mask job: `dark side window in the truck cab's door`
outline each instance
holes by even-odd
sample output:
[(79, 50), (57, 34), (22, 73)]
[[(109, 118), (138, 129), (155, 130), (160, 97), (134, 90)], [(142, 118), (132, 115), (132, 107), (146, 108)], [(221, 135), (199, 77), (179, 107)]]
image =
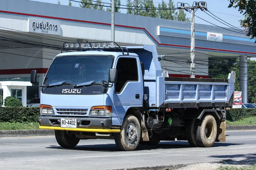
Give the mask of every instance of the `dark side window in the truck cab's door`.
[(127, 82), (138, 81), (137, 60), (134, 58), (120, 58), (117, 61), (117, 82), (115, 84), (116, 94), (122, 91)]

